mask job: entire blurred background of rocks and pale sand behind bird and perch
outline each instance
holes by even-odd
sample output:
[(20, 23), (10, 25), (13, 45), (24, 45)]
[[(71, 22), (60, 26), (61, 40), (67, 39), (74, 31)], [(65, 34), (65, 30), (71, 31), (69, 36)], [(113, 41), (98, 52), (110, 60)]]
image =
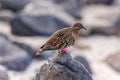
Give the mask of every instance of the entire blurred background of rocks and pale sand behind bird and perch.
[(0, 0), (0, 80), (35, 80), (55, 51), (34, 53), (58, 29), (82, 21), (69, 48), (95, 80), (120, 80), (120, 0)]

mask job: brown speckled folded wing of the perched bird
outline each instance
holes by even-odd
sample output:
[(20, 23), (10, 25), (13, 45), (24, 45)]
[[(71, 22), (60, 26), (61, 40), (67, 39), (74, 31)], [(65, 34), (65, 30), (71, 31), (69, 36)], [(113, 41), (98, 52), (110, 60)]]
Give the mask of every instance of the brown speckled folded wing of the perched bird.
[(63, 28), (56, 31), (50, 39), (41, 47), (45, 50), (56, 50), (61, 48), (66, 48), (74, 44), (74, 38), (72, 37), (71, 30), (68, 28)]

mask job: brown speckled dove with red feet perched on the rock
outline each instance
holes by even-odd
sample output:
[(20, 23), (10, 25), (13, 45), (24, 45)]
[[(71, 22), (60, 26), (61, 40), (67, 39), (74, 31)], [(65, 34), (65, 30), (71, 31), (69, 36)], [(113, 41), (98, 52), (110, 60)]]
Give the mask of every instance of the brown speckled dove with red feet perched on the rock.
[(59, 53), (68, 53), (66, 48), (74, 45), (80, 35), (81, 29), (87, 30), (80, 22), (77, 22), (70, 27), (57, 30), (40, 47), (36, 55), (41, 55), (44, 51), (48, 50), (58, 50)]

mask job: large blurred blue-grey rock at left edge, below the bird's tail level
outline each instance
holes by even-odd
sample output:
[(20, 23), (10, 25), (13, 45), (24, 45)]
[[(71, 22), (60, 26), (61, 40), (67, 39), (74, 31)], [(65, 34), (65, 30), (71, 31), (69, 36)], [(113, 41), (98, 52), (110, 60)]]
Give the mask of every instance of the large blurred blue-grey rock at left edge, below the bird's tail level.
[(27, 51), (0, 34), (0, 65), (11, 70), (23, 71), (31, 61), (32, 57)]

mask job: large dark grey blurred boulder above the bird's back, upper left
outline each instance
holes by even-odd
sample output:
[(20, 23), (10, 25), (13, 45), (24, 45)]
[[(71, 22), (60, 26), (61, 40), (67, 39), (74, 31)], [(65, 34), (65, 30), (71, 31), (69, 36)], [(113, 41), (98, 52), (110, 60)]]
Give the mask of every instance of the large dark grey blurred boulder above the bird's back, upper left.
[(22, 13), (10, 21), (12, 33), (19, 36), (51, 35), (56, 30), (68, 26), (60, 18), (51, 15)]

